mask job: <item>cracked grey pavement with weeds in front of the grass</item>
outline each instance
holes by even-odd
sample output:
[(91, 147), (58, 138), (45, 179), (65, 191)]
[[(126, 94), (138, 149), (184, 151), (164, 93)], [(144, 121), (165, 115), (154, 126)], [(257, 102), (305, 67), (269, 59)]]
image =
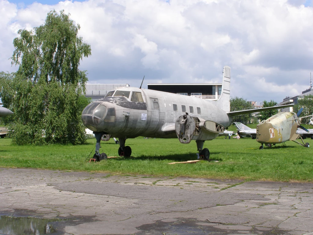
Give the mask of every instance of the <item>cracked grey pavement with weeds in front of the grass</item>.
[(310, 234), (313, 184), (0, 169), (0, 215), (60, 234)]

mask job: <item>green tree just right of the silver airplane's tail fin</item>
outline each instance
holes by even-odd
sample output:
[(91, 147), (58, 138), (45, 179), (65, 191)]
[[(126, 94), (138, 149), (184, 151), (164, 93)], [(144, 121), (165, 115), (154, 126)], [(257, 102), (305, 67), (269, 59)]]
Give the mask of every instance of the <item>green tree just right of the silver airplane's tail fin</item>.
[[(240, 111), (240, 110), (247, 110), (252, 109), (252, 105), (249, 101), (245, 100), (244, 98), (239, 97), (231, 97), (230, 98), (230, 111)], [(240, 122), (243, 124), (250, 123), (251, 114), (243, 114), (239, 116), (233, 117), (233, 122)]]

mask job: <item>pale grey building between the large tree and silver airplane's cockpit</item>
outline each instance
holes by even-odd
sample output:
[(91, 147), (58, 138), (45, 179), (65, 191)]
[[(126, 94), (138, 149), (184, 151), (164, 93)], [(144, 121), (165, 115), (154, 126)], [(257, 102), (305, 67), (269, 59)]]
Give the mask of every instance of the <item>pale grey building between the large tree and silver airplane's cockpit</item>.
[(86, 95), (92, 101), (105, 97), (108, 91), (115, 90), (116, 87), (129, 86), (129, 84), (86, 84)]

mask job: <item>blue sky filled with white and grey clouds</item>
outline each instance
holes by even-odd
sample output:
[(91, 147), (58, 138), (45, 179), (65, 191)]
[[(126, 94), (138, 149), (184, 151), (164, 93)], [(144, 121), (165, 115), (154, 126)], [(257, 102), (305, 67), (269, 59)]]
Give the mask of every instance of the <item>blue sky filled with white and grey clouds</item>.
[(18, 69), (18, 29), (54, 9), (91, 45), (89, 84), (221, 83), (228, 65), (231, 97), (279, 103), (310, 87), (312, 0), (0, 0), (0, 71)]

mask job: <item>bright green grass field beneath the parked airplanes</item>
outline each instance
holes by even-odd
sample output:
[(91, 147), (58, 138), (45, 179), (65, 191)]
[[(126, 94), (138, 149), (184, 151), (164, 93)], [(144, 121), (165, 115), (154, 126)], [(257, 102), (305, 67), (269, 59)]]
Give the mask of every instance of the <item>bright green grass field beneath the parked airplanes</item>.
[[(313, 147), (313, 140), (305, 139)], [(196, 160), (196, 143), (180, 144), (178, 139), (127, 139), (131, 158), (116, 158), (89, 163), (94, 154), (95, 138), (85, 145), (18, 146), (11, 139), (0, 139), (0, 167), (36, 168), (104, 172), (122, 175), (164, 175), (196, 178), (246, 179), (313, 182), (312, 149), (288, 141), (272, 148), (255, 140), (219, 137), (206, 141), (210, 161), (196, 164), (167, 163)], [(117, 156), (119, 145), (102, 142), (100, 152)], [(90, 154), (90, 152), (92, 152)], [(88, 157), (88, 155), (90, 156)], [(216, 162), (218, 161), (218, 162)]]

